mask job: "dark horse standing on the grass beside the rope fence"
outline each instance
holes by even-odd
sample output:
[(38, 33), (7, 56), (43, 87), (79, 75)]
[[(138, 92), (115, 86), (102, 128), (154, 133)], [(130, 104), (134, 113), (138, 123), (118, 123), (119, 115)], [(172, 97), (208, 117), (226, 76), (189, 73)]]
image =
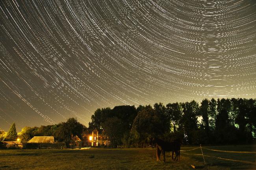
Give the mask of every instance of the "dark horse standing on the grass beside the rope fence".
[[(165, 152), (172, 152), (172, 160), (180, 160), (180, 146), (181, 143), (176, 140), (173, 142), (165, 142), (156, 137), (153, 138), (153, 143), (156, 143), (156, 160), (160, 161), (160, 154), (163, 154), (163, 161), (165, 161)], [(173, 153), (175, 152), (175, 158), (173, 158)]]

